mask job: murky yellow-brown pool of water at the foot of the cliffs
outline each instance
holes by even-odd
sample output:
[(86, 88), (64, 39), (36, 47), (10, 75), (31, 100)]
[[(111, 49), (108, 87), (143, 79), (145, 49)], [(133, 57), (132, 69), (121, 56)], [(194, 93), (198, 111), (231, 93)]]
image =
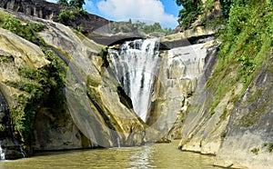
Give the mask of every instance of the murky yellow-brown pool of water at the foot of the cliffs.
[(1, 169), (38, 168), (214, 168), (213, 156), (181, 152), (178, 142), (150, 144), (140, 147), (122, 147), (68, 152), (35, 154), (34, 157), (17, 161), (0, 162)]

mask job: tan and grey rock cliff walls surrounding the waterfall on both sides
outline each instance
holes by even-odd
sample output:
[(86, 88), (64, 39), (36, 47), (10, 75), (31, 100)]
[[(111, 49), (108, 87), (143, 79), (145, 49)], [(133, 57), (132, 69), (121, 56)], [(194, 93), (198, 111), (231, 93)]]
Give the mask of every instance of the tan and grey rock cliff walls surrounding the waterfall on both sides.
[[(216, 165), (271, 167), (273, 62), (268, 37), (261, 38), (266, 39), (260, 47), (264, 56), (255, 61), (263, 64), (255, 67), (253, 77), (248, 75), (248, 85), (238, 73), (246, 65), (244, 58), (217, 62), (216, 30), (197, 26), (162, 37), (144, 123), (108, 66), (105, 45), (115, 44), (120, 36), (111, 41), (93, 34), (87, 38), (54, 22), (62, 7), (45, 1), (3, 0), (0, 6), (14, 11), (5, 13), (20, 18), (22, 26), (45, 26), (33, 43), (0, 28), (1, 158), (3, 152), (6, 159), (20, 158), (21, 148), (32, 154), (141, 145), (167, 137), (182, 138), (183, 151), (216, 155)], [(92, 32), (108, 23), (86, 15), (67, 25)], [(63, 80), (66, 84), (61, 85)], [(25, 120), (27, 115), (32, 118)]]

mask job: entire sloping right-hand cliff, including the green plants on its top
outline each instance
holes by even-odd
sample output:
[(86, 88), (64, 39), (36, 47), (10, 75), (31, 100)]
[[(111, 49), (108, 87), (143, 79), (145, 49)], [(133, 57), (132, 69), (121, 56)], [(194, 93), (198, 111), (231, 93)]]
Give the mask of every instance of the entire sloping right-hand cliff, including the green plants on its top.
[[(183, 151), (215, 154), (215, 164), (225, 167), (272, 165), (272, 4), (252, 3), (230, 13), (217, 65), (192, 98), (179, 144)], [(242, 11), (253, 17), (238, 19)], [(238, 20), (246, 24), (235, 33), (231, 25)], [(264, 38), (249, 35), (257, 32)]]

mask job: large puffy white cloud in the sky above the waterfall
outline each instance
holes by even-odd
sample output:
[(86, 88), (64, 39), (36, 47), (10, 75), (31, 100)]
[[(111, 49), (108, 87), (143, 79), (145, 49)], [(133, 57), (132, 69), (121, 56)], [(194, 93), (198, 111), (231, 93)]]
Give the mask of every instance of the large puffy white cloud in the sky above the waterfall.
[(159, 0), (101, 0), (97, 4), (104, 15), (116, 20), (141, 20), (147, 24), (159, 22), (163, 26), (175, 27), (177, 18), (166, 14)]

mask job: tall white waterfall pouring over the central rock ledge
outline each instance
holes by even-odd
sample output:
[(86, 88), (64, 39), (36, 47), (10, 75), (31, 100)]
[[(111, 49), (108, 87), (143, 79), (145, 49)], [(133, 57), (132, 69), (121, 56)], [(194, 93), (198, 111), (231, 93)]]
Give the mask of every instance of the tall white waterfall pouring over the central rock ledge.
[(127, 41), (119, 51), (109, 49), (116, 79), (130, 96), (136, 114), (145, 122), (152, 81), (156, 75), (159, 39)]

